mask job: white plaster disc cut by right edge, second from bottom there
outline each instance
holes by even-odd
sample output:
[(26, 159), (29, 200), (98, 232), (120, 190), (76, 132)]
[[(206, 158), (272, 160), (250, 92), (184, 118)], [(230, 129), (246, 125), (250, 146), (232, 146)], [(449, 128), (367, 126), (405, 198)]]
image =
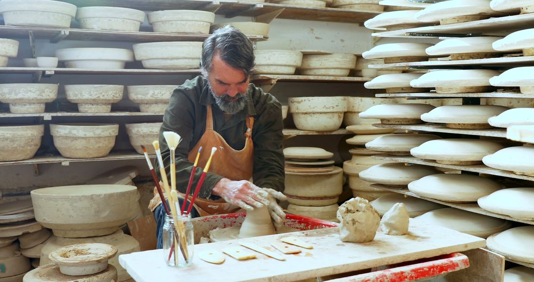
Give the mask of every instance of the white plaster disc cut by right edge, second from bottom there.
[(512, 260), (534, 263), (534, 226), (521, 226), (497, 234), (486, 240), (490, 250), (503, 254)]

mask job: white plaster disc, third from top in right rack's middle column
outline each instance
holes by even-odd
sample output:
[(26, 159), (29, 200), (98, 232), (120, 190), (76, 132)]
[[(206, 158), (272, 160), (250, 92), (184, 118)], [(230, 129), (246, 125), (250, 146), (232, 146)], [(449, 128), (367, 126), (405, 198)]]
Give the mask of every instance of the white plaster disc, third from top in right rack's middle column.
[[(451, 0), (453, 1), (453, 0)], [(451, 69), (434, 70), (412, 80), (412, 87), (472, 87), (489, 86), (490, 79), (499, 75), (490, 69)]]

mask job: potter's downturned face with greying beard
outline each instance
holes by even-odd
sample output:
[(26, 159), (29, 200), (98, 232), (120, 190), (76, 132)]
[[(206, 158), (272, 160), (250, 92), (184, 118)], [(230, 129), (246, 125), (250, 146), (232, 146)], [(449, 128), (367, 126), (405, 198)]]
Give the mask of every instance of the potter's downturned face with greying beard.
[(243, 70), (227, 65), (218, 53), (213, 56), (208, 82), (211, 95), (223, 112), (235, 114), (245, 108), (249, 77)]

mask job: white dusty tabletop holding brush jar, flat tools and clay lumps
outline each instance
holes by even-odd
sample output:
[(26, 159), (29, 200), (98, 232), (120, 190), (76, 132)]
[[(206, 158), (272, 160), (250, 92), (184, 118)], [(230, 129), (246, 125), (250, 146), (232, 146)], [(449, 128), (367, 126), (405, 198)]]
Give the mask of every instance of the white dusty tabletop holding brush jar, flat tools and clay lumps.
[[(372, 242), (364, 244), (342, 242), (339, 239), (338, 228), (326, 228), (200, 244), (195, 245), (194, 252), (220, 251), (225, 247), (239, 246), (239, 242), (242, 241), (276, 250), (270, 246), (271, 242), (288, 236), (295, 236), (309, 242), (313, 245), (313, 249), (301, 248), (300, 254), (284, 255), (285, 261), (278, 261), (246, 249), (247, 252), (255, 253), (257, 258), (237, 261), (226, 256), (226, 261), (220, 265), (202, 261), (195, 256), (193, 264), (187, 268), (167, 267), (163, 261), (161, 249), (121, 255), (119, 262), (137, 282), (176, 281), (178, 279), (182, 281), (272, 281), (273, 278), (276, 281), (294, 281), (486, 246), (482, 238), (436, 225), (410, 221), (409, 234), (389, 236), (377, 233)], [(245, 249), (245, 247), (241, 248)]]

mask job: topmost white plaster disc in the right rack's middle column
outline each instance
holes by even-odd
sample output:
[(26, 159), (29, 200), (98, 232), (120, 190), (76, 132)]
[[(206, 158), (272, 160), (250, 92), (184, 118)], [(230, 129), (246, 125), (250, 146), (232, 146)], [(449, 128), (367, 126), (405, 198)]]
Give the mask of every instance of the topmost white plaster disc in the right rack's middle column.
[(425, 8), (415, 15), (418, 21), (449, 23), (483, 20), (499, 17), (505, 13), (493, 11), (490, 0), (450, 0), (443, 1)]

